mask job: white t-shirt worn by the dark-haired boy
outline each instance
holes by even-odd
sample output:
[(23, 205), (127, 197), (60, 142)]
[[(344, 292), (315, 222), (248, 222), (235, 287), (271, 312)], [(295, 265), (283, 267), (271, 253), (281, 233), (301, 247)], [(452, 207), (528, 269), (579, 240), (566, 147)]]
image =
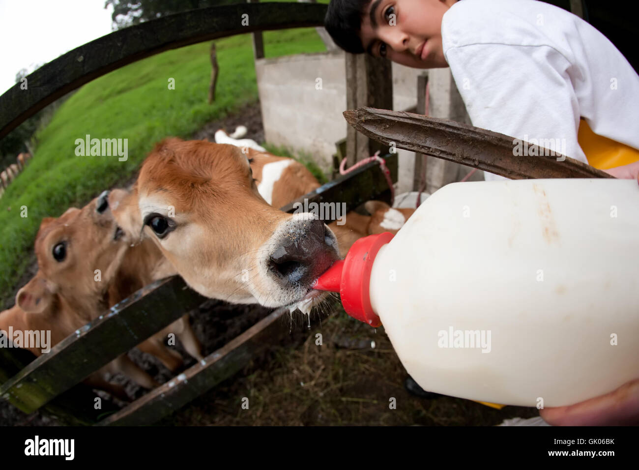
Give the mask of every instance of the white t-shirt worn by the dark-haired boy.
[(583, 116), (595, 134), (639, 148), (639, 76), (573, 13), (534, 0), (461, 0), (443, 15), (442, 44), (474, 126), (557, 143), (551, 150), (587, 163)]

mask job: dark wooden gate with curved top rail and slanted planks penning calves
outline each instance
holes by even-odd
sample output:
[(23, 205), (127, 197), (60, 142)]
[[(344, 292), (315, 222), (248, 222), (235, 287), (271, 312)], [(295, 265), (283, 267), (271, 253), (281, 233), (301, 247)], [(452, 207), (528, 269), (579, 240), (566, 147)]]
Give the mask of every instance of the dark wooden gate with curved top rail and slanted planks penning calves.
[[(235, 4), (168, 15), (116, 31), (67, 52), (33, 72), (27, 77), (28, 93), (16, 84), (0, 96), (0, 137), (69, 91), (128, 63), (225, 36), (321, 26), (326, 9), (324, 4)], [(248, 26), (241, 26), (242, 15), (248, 15)], [(396, 182), (397, 155), (386, 155), (385, 159)], [(304, 199), (309, 203), (346, 202), (346, 208), (352, 210), (371, 199), (389, 201), (390, 191), (377, 164), (371, 163), (298, 201)], [(293, 212), (293, 204), (282, 210)], [(288, 313), (288, 309), (276, 309), (203, 361), (121, 410), (107, 402), (98, 411), (78, 406), (80, 402), (93, 403), (95, 398), (91, 390), (79, 382), (205, 300), (179, 276), (174, 276), (135, 292), (61, 341), (49, 354), (35, 360), (26, 350), (0, 349), (0, 396), (23, 412), (42, 408), (73, 425), (154, 423), (231, 377), (249, 363), (256, 352), (286, 333), (277, 320)], [(100, 414), (109, 416), (100, 420)]]

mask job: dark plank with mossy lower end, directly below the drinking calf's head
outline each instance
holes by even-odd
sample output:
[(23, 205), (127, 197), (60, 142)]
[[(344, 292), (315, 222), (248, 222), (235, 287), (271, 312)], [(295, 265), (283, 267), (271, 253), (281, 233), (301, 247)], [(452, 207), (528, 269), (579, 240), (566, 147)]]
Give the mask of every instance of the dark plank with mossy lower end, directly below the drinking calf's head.
[(150, 284), (4, 382), (0, 396), (33, 412), (204, 300), (179, 276)]

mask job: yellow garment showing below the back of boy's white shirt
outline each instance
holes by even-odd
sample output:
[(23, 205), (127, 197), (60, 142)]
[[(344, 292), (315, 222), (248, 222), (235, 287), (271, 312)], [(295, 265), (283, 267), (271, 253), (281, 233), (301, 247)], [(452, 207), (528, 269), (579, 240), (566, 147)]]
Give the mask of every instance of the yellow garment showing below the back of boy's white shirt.
[(579, 121), (577, 141), (590, 166), (597, 169), (610, 169), (639, 161), (639, 150), (595, 134), (583, 118)]

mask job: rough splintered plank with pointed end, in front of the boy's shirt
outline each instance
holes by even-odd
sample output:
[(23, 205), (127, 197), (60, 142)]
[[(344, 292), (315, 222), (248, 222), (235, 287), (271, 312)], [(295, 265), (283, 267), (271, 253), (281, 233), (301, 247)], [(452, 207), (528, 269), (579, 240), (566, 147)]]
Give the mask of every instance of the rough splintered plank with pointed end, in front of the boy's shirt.
[(362, 134), (399, 148), (472, 166), (511, 179), (612, 178), (600, 169), (538, 145), (528, 155), (514, 155), (513, 137), (447, 119), (360, 107), (344, 111), (346, 121)]

